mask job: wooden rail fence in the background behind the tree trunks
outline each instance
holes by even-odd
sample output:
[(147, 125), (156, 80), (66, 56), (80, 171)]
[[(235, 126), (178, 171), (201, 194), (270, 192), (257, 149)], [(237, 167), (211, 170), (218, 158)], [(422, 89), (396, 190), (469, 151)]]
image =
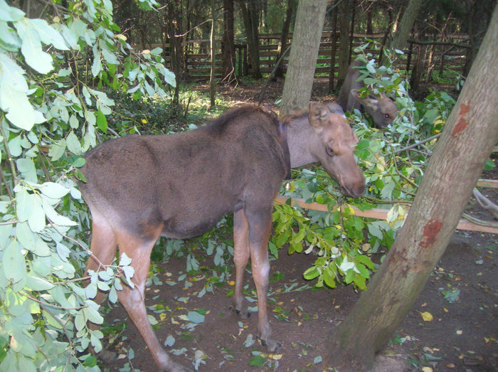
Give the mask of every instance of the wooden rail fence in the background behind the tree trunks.
[[(366, 38), (374, 41), (382, 42), (383, 33), (366, 34), (354, 33), (351, 43), (351, 50), (357, 46), (366, 43)], [(417, 62), (418, 58), (423, 58), (426, 63), (437, 63), (438, 69), (452, 69), (461, 70), (465, 64), (465, 55), (468, 37), (462, 34), (454, 35), (435, 35), (433, 41), (418, 42), (413, 40), (410, 46), (406, 48), (405, 55), (401, 60), (405, 64), (406, 70), (411, 70), (413, 65)], [(292, 43), (292, 33), (288, 35), (288, 42), (286, 46), (282, 47), (285, 51)], [(339, 51), (339, 35), (336, 39), (335, 50)], [(277, 48), (280, 41), (280, 34), (263, 34), (260, 35), (260, 71), (261, 73), (270, 73), (275, 67), (277, 62)], [(211, 56), (209, 55), (209, 41), (196, 40), (196, 41), (183, 41), (182, 46), (184, 49), (184, 75), (189, 79), (206, 80), (209, 78), (211, 69)], [(164, 58), (166, 63), (171, 60), (169, 55), (169, 44), (149, 44), (142, 46), (142, 48), (156, 48), (161, 47), (164, 51)], [(324, 31), (320, 41), (320, 48), (317, 58), (317, 68), (315, 76), (329, 76), (331, 73), (332, 63), (332, 31)], [(367, 50), (373, 55), (378, 55), (378, 51)], [(352, 58), (354, 58), (352, 52)], [(422, 54), (422, 55), (420, 55)], [(221, 61), (221, 41), (216, 41), (216, 76), (221, 77), (222, 61)], [(339, 55), (336, 55), (338, 60)], [(288, 55), (282, 61), (284, 72), (288, 64)], [(245, 39), (238, 39), (235, 41), (235, 73), (238, 76), (248, 75), (250, 60), (248, 53), (248, 46)]]

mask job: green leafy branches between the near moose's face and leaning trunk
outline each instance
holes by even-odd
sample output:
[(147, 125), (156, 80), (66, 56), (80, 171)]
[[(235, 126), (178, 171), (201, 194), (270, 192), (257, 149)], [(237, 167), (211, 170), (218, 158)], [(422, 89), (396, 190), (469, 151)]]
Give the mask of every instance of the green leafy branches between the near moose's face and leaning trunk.
[[(323, 204), (327, 212), (304, 212), (276, 205), (273, 213), (275, 235), (271, 252), (277, 255), (278, 249), (288, 242), (288, 253), (316, 254), (317, 260), (304, 277), (316, 279), (317, 287), (352, 282), (365, 289), (366, 279), (375, 268), (371, 258), (393, 244), (437, 141), (433, 135), (441, 131), (455, 105), (455, 100), (443, 92), (432, 92), (425, 102), (413, 102), (405, 77), (395, 67), (396, 54), (401, 52), (384, 49), (385, 63), (378, 65), (371, 54), (364, 53), (370, 43), (373, 41), (355, 51), (366, 64), (361, 69), (366, 86), (360, 92), (364, 96), (385, 92), (396, 99), (399, 115), (383, 131), (374, 129), (371, 118), (358, 110), (349, 115), (360, 139), (355, 154), (366, 177), (366, 196), (344, 198), (321, 168), (302, 169), (294, 171), (296, 180), (285, 195)], [(385, 209), (387, 219), (360, 218), (353, 206), (362, 211)]]

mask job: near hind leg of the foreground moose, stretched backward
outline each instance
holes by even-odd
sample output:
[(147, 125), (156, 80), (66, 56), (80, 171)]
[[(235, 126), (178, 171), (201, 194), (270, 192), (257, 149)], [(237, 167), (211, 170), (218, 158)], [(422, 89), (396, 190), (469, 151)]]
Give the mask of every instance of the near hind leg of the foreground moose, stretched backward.
[(131, 265), (134, 269), (132, 282), (134, 283), (134, 288), (124, 285), (122, 291), (117, 291), (117, 296), (130, 319), (137, 326), (150, 354), (152, 354), (152, 358), (154, 358), (161, 371), (185, 372), (189, 370), (174, 363), (169, 358), (166, 351), (159, 344), (159, 340), (149, 323), (149, 319), (147, 319), (147, 310), (144, 301), (145, 281), (147, 280), (147, 275), (149, 275), (150, 253), (154, 247), (154, 243), (159, 238), (159, 234), (160, 230), (157, 231), (157, 235), (154, 238), (147, 241), (127, 233), (118, 234), (117, 243), (120, 248), (120, 255), (126, 253), (132, 259)]

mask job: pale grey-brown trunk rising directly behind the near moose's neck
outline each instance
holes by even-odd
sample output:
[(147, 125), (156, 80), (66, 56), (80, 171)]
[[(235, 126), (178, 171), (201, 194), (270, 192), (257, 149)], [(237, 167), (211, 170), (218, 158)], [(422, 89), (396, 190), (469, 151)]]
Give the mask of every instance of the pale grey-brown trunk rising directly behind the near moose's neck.
[(282, 115), (309, 105), (326, 10), (327, 0), (300, 1), (297, 6), (289, 68), (282, 92)]

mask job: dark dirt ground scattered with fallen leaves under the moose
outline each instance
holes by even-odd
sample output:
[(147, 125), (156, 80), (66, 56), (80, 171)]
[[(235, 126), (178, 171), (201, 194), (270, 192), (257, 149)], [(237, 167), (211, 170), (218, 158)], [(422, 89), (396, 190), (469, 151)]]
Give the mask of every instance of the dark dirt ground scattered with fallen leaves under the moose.
[[(279, 84), (267, 91), (268, 107), (275, 108)], [(317, 84), (315, 97), (323, 99), (326, 84)], [(232, 89), (226, 95), (233, 97), (235, 105), (257, 100), (260, 88), (250, 91), (244, 87), (238, 95)], [(485, 176), (497, 179), (498, 172)], [(498, 201), (497, 191), (484, 189), (483, 193)], [(472, 200), (470, 210), (492, 220)], [(282, 250), (279, 259), (271, 262), (269, 312), (273, 335), (283, 344), (278, 354), (267, 354), (253, 341), (256, 314), (241, 320), (229, 310), (231, 298), (227, 294), (233, 289), (233, 266), (229, 267), (230, 280), (201, 296), (211, 275), (208, 269), (214, 267), (213, 255), (196, 258), (206, 270), (185, 276), (186, 260), (169, 257), (157, 265), (157, 278), (163, 284), (147, 288), (149, 314), (159, 322), (157, 336), (166, 344), (172, 344), (174, 338), (174, 344), (166, 348), (174, 361), (195, 369), (197, 358), (201, 361), (198, 371), (334, 371), (334, 366), (322, 362), (328, 352), (327, 334), (345, 319), (360, 293), (352, 286), (314, 289), (314, 283), (302, 277), (315, 259), (313, 254), (287, 255)], [(249, 271), (245, 284), (247, 297), (255, 299)], [(432, 320), (424, 319), (428, 314)], [(110, 371), (157, 371), (119, 304), (105, 319), (114, 329), (126, 326), (119, 332), (123, 341), (116, 337), (110, 346), (121, 354), (120, 359), (104, 367)], [(133, 358), (128, 358), (130, 349)], [(378, 356), (377, 371), (422, 370), (498, 371), (498, 235), (455, 233), (413, 308)]]

